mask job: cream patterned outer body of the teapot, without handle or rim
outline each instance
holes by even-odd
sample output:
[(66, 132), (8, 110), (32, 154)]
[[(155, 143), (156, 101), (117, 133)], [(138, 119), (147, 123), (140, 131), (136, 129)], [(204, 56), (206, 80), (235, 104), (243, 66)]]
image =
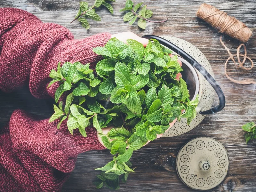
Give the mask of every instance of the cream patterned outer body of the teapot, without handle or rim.
[[(211, 75), (213, 76), (212, 67), (209, 61), (206, 59), (204, 54), (196, 48), (193, 44), (176, 37), (171, 36), (162, 36), (162, 38), (170, 41), (176, 46), (180, 47), (182, 50), (187, 52), (190, 56), (192, 56), (197, 62), (199, 62)], [(177, 121), (168, 132), (163, 134), (163, 137), (174, 137), (177, 135), (181, 135), (195, 128), (198, 124), (200, 124), (206, 115), (201, 115), (199, 111), (205, 111), (212, 107), (213, 98), (214, 98), (214, 89), (210, 85), (210, 83), (202, 76), (199, 71), (196, 70), (198, 79), (199, 79), (199, 103), (196, 108), (197, 115), (196, 118), (188, 125), (186, 118), (181, 118), (180, 121)]]

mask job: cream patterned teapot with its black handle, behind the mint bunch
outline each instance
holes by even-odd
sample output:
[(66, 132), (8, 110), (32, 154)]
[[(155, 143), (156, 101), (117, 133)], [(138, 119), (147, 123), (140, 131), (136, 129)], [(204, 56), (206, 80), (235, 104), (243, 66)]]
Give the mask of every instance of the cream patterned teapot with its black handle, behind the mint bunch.
[[(173, 137), (190, 131), (203, 121), (206, 115), (219, 112), (225, 107), (225, 96), (219, 84), (213, 78), (213, 71), (204, 54), (193, 44), (171, 36), (142, 36), (147, 39), (156, 39), (160, 44), (171, 49), (182, 62), (182, 78), (188, 85), (190, 100), (199, 95), (199, 103), (196, 108), (196, 118), (188, 125), (186, 118), (177, 121), (163, 137)], [(211, 108), (214, 92), (219, 97), (219, 105)]]

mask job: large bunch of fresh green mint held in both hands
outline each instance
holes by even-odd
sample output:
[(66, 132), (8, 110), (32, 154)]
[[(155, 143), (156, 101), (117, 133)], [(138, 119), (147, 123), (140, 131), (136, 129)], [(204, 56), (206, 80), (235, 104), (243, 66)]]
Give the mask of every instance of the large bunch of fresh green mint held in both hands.
[[(53, 79), (61, 84), (55, 92), (58, 102), (68, 92), (65, 107), (62, 101), (54, 105), (55, 113), (49, 122), (60, 119), (57, 128), (68, 118), (71, 134), (77, 129), (86, 137), (85, 128), (93, 125), (100, 132), (104, 145), (110, 150), (113, 160), (97, 175), (97, 188), (106, 185), (119, 188), (119, 176), (126, 182), (134, 172), (129, 161), (132, 152), (155, 140), (164, 133), (175, 118), (187, 118), (188, 124), (196, 117), (198, 96), (190, 101), (186, 82), (176, 75), (182, 71), (178, 57), (168, 55), (166, 49), (155, 39), (148, 41), (146, 48), (135, 40), (127, 44), (112, 38), (104, 47), (93, 51), (103, 56), (95, 68), (90, 64), (66, 62), (57, 71), (52, 70)], [(62, 98), (64, 99), (64, 98)], [(185, 113), (181, 110), (185, 109)], [(107, 134), (102, 128), (114, 125)], [(111, 141), (110, 141), (111, 139)]]

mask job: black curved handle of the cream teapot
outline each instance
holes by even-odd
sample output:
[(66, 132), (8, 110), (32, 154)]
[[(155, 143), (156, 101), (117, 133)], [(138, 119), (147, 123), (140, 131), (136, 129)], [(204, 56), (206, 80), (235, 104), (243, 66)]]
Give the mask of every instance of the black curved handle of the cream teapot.
[(214, 114), (219, 112), (225, 107), (225, 96), (222, 92), (220, 85), (215, 81), (215, 79), (208, 73), (208, 71), (205, 70), (205, 68), (202, 67), (194, 58), (192, 58), (188, 53), (177, 47), (175, 44), (171, 43), (170, 41), (159, 37), (155, 35), (144, 35), (142, 36), (146, 39), (156, 39), (160, 44), (168, 47), (169, 49), (173, 50), (174, 52), (178, 53), (181, 57), (183, 57), (185, 60), (187, 60), (194, 68), (196, 68), (203, 76), (204, 78), (212, 85), (213, 89), (217, 93), (220, 103), (218, 106), (211, 108), (207, 111), (200, 111), (199, 113), (201, 115), (208, 115), (208, 114)]

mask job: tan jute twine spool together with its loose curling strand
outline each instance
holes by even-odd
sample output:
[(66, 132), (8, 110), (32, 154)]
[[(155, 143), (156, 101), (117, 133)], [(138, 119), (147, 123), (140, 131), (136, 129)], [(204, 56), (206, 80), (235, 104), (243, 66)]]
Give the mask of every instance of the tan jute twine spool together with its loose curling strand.
[[(243, 22), (237, 20), (235, 17), (231, 17), (227, 15), (226, 12), (220, 11), (219, 9), (211, 5), (208, 5), (205, 3), (202, 4), (198, 9), (198, 11), (196, 12), (196, 15), (202, 20), (212, 25), (212, 27), (214, 27), (215, 29), (219, 30), (219, 32), (225, 33), (235, 39), (238, 39), (243, 43), (247, 42), (249, 38), (252, 36), (251, 29), (248, 28)], [(245, 45), (240, 44), (237, 47), (236, 54), (233, 55), (228, 49), (228, 47), (223, 43), (221, 36), (220, 36), (220, 43), (225, 47), (225, 49), (229, 54), (229, 58), (226, 60), (225, 67), (224, 67), (226, 77), (230, 81), (237, 84), (256, 84), (256, 82), (253, 79), (243, 79), (241, 81), (235, 80), (230, 76), (228, 76), (228, 73), (227, 73), (227, 64), (229, 60), (232, 60), (237, 68), (243, 68), (245, 70), (251, 70), (253, 68), (253, 61), (251, 60), (251, 58), (247, 57), (247, 51), (246, 51)], [(244, 47), (244, 55), (240, 54), (240, 48), (242, 46)], [(240, 60), (240, 56), (244, 57), (242, 62)], [(235, 57), (237, 57), (238, 64), (234, 59)], [(249, 68), (244, 67), (244, 63), (246, 59), (250, 60), (251, 62), (251, 67)]]

